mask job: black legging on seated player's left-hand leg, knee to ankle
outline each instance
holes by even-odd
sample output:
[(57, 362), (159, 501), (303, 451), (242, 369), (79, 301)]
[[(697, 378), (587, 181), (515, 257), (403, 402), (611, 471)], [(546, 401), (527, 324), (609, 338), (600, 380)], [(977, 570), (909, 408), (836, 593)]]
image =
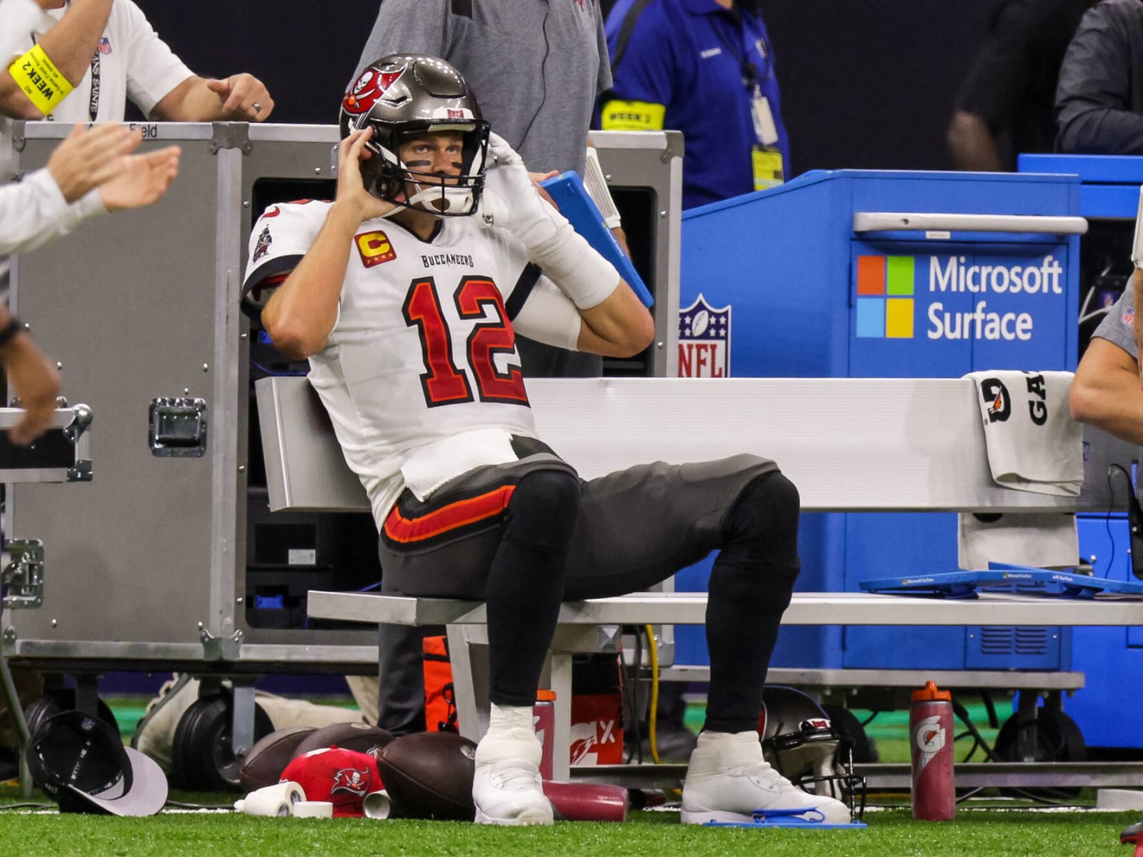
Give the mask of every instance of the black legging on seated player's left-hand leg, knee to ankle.
[(578, 513), (580, 480), (565, 471), (533, 471), (512, 492), (486, 594), (490, 698), (497, 705), (536, 702)]

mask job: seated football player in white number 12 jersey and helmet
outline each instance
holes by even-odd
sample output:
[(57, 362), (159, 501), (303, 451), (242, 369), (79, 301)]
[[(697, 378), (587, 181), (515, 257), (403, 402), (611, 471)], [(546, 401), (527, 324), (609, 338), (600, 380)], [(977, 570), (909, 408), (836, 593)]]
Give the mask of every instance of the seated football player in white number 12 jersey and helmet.
[(283, 353), (310, 360), (373, 505), (383, 591), (487, 602), (477, 820), (552, 822), (531, 712), (560, 601), (645, 590), (720, 550), (682, 820), (766, 808), (848, 822), (844, 803), (772, 769), (757, 731), (799, 570), (794, 486), (749, 455), (581, 481), (536, 435), (513, 331), (625, 357), (650, 344), (650, 315), (541, 199), (449, 64), (373, 63), (341, 119), (337, 199), (262, 216), (243, 299), (264, 304)]

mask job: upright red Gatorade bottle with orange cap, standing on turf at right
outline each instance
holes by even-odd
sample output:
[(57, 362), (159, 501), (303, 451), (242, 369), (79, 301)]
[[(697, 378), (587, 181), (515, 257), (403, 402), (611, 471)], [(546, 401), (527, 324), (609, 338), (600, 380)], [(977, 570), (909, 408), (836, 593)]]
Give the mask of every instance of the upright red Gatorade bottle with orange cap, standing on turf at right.
[(951, 822), (957, 812), (952, 772), (952, 694), (926, 682), (913, 691), (909, 708), (909, 746), (912, 752), (913, 818)]

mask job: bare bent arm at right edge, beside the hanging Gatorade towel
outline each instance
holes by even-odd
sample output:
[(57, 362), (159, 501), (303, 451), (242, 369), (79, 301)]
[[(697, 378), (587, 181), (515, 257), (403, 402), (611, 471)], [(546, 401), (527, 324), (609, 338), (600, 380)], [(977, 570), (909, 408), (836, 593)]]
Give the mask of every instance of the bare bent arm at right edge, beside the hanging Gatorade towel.
[(1093, 337), (1076, 368), (1072, 418), (1143, 446), (1143, 386), (1138, 362), (1121, 347)]

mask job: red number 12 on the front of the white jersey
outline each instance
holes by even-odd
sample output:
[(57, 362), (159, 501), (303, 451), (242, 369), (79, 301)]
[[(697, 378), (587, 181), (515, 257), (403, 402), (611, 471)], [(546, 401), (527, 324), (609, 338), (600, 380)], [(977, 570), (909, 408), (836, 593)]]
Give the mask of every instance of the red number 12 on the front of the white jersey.
[[(421, 336), (425, 361), (421, 389), (425, 405), (435, 408), (473, 401), (470, 373), (477, 381), (480, 401), (527, 405), (520, 367), (509, 365), (505, 371), (496, 368), (496, 355), (511, 354), (515, 347), (515, 334), (499, 289), (487, 277), (465, 277), (453, 294), (453, 303), (462, 319), (480, 319), (472, 326), (465, 343), (466, 368), (457, 366), (453, 354), (453, 336), (433, 278), (414, 280), (401, 307), (405, 323), (416, 327)], [(491, 318), (486, 319), (486, 315)]]

